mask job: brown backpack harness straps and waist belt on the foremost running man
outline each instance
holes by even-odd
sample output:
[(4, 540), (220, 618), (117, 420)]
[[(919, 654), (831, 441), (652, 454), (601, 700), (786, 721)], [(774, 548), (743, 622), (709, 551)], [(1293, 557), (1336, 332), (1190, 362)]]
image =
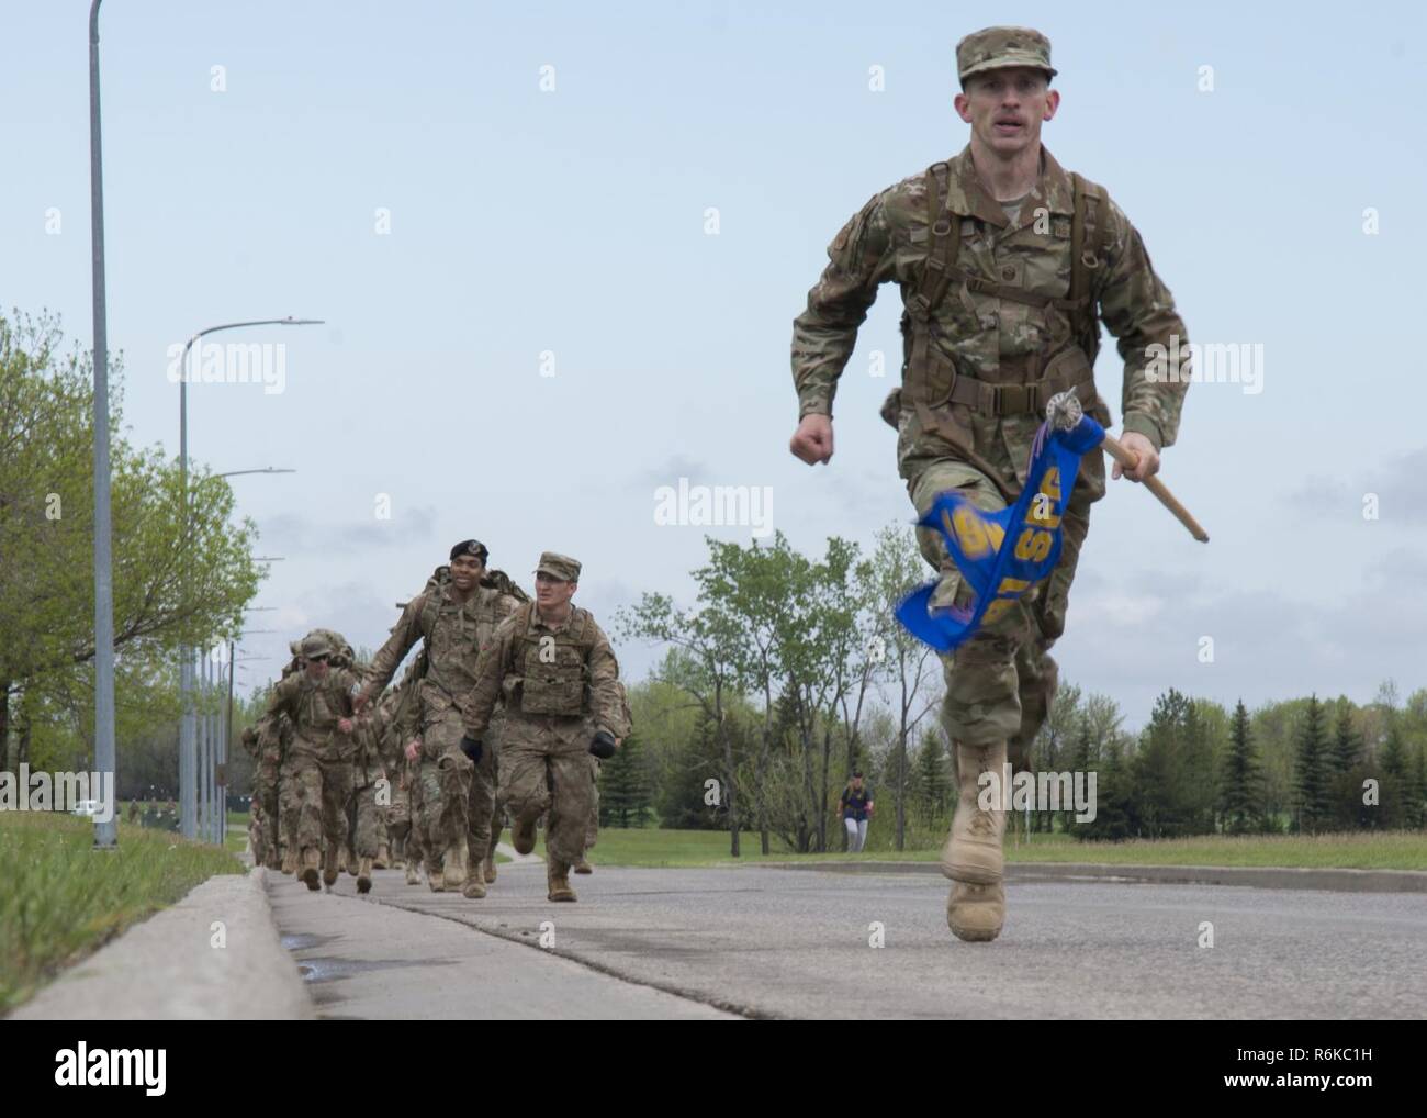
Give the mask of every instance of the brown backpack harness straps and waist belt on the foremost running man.
[[(1095, 400), (1095, 358), (1100, 348), (1093, 273), (1109, 258), (1109, 200), (1095, 183), (1070, 173), (1073, 216), (1070, 221), (1070, 290), (1065, 298), (1009, 287), (958, 266), (962, 221), (972, 220), (950, 208), (950, 166), (933, 163), (926, 170), (928, 248), (916, 284), (903, 290), (902, 390), (888, 400), (883, 418), (898, 425), (896, 411), (910, 404), (923, 430), (932, 430), (982, 465), (965, 428), (950, 418), (950, 406), (963, 404), (982, 416), (1033, 416), (1045, 411), (1052, 396), (1075, 390), (1089, 406)], [(935, 343), (933, 311), (949, 296), (969, 293), (1025, 303), (1045, 311), (1050, 340), (1019, 363), (1007, 361), (1006, 383), (992, 384), (956, 368)], [(1060, 311), (1062, 314), (1053, 314)], [(1069, 320), (1069, 330), (1063, 323)], [(986, 470), (986, 467), (982, 467)], [(995, 470), (986, 470), (992, 478)]]

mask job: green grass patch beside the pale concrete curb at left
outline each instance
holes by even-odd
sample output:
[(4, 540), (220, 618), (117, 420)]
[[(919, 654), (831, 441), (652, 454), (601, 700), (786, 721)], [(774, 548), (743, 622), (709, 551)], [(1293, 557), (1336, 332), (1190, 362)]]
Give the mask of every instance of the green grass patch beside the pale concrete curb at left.
[(0, 812), (0, 1014), (194, 885), (244, 871), (228, 852), (127, 824), (118, 850), (93, 844), (88, 820)]

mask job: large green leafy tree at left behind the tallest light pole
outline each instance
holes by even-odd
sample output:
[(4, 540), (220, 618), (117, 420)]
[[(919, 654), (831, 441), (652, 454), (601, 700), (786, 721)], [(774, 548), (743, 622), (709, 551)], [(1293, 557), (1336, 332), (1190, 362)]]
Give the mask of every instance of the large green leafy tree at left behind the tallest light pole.
[[(0, 317), (0, 747), (11, 707), (27, 711), (11, 767), (37, 735), (67, 735), (74, 755), (93, 737), (81, 714), (94, 660), (91, 364), (60, 347), (51, 318)], [(260, 581), (255, 530), (231, 523), (231, 490), (203, 470), (190, 473), (186, 521), (178, 463), (124, 437), (117, 363), (110, 384), (116, 683), (143, 684), (183, 643), (240, 630)], [(116, 685), (120, 772), (156, 694)]]

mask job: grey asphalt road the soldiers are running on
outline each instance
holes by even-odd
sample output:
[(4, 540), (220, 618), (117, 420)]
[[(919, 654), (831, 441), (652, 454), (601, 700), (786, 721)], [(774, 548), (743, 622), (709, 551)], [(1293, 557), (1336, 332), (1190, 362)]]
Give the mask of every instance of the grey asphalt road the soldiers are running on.
[(1427, 1005), (1424, 894), (1012, 882), (1000, 940), (963, 944), (930, 874), (571, 881), (578, 904), (545, 900), (542, 865), (502, 865), (482, 901), (397, 871), (367, 898), (347, 875), (331, 895), (280, 874), (267, 888), (321, 1017), (1417, 1019)]

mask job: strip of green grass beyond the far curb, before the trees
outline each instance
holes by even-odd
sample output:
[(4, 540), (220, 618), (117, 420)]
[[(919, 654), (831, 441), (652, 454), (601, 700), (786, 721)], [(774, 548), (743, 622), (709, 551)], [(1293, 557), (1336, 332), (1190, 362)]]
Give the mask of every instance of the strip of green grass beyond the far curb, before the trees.
[[(507, 837), (508, 838), (508, 837)], [(544, 832), (537, 851), (544, 854)], [(872, 850), (865, 854), (793, 854), (776, 838), (765, 857), (756, 834), (745, 832), (742, 857), (729, 857), (723, 831), (602, 828), (591, 851), (595, 865), (679, 867), (756, 865), (819, 861), (936, 861), (940, 844), (920, 850)], [(1351, 870), (1427, 870), (1427, 832), (1333, 835), (1203, 835), (1199, 838), (1079, 842), (1067, 834), (1006, 835), (1012, 862), (1099, 862), (1106, 865), (1273, 865)]]

